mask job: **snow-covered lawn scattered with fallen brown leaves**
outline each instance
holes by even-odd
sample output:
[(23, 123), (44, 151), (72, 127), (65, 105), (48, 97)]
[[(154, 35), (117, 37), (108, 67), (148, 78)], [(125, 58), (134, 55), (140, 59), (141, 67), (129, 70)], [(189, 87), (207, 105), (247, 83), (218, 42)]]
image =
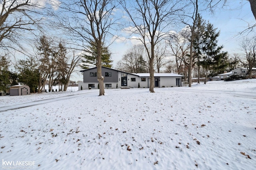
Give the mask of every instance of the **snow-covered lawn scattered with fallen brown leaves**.
[(256, 79), (77, 90), (0, 96), (2, 169), (256, 168)]

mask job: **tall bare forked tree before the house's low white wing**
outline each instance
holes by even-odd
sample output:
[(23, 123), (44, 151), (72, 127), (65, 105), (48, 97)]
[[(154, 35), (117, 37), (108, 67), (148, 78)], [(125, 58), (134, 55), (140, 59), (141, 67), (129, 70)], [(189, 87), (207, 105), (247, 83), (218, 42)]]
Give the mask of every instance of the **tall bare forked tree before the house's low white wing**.
[(178, 2), (170, 0), (134, 0), (121, 1), (122, 7), (130, 18), (128, 31), (139, 35), (135, 38), (141, 41), (146, 48), (149, 59), (150, 92), (154, 92), (154, 50), (168, 32), (168, 26), (174, 20), (174, 14), (178, 11)]

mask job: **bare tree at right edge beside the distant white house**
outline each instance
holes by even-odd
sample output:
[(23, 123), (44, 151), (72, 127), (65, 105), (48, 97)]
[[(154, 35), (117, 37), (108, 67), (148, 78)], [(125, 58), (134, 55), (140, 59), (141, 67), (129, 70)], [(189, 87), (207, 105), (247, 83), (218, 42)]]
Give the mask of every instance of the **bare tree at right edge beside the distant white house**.
[(249, 78), (252, 78), (252, 68), (256, 65), (256, 37), (245, 39), (241, 44), (243, 65), (248, 69)]

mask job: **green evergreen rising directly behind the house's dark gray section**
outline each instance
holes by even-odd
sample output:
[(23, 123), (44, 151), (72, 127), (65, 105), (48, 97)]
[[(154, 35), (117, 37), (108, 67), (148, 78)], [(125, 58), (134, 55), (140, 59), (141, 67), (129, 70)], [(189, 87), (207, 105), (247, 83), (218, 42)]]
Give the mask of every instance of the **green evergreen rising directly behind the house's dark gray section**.
[[(82, 69), (87, 69), (91, 65), (95, 65), (97, 63), (96, 57), (97, 57), (97, 49), (95, 46), (87, 46), (86, 54), (82, 56), (84, 59), (82, 59)], [(102, 60), (102, 66), (111, 68), (113, 66), (113, 61), (111, 60), (111, 53), (108, 50), (108, 47), (102, 47), (102, 55), (101, 55), (101, 60)]]

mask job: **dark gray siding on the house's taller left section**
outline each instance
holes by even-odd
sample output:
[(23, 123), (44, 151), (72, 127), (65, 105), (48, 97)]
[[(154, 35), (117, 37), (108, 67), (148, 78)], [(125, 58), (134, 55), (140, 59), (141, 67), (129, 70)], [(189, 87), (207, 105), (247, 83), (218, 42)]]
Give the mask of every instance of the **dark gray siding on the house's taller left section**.
[[(98, 75), (97, 75), (97, 77), (90, 77), (90, 72), (97, 72), (97, 68), (93, 68), (93, 69), (84, 71), (84, 83), (98, 82)], [(111, 72), (112, 76), (106, 77), (105, 72)], [(117, 70), (112, 70), (112, 69), (102, 67), (101, 74), (102, 74), (102, 76), (104, 76), (104, 82), (118, 82), (118, 71)]]

